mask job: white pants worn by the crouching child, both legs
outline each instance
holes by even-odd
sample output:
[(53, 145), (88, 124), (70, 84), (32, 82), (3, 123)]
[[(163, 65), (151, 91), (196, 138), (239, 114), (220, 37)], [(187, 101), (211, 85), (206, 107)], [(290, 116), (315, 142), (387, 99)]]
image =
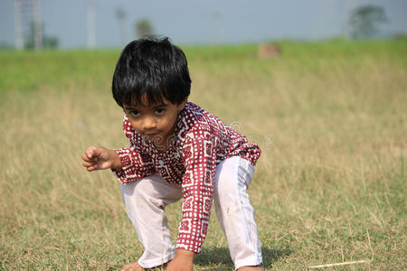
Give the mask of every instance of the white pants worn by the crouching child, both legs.
[[(246, 192), (253, 173), (254, 166), (236, 156), (217, 165), (213, 183), (214, 210), (236, 269), (262, 263), (254, 210)], [(167, 183), (156, 173), (137, 182), (120, 184), (120, 191), (128, 218), (145, 248), (138, 264), (150, 268), (175, 257), (165, 207), (182, 199), (181, 185)]]

